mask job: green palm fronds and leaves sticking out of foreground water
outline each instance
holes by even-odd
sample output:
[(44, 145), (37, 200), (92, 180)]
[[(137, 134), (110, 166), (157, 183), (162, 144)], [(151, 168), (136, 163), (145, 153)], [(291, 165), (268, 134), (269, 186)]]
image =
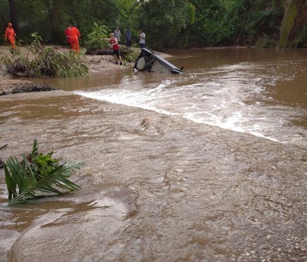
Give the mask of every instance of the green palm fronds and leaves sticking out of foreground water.
[(43, 155), (37, 150), (35, 139), (32, 152), (28, 157), (23, 155), (23, 161), (10, 157), (4, 162), (9, 204), (79, 189), (69, 178), (72, 170), (81, 168), (82, 163), (60, 164), (52, 158), (53, 152)]

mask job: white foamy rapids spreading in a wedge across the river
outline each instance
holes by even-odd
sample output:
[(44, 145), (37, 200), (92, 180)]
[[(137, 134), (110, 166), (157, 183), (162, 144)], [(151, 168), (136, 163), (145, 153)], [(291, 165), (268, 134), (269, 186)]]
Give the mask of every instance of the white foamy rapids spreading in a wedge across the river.
[[(259, 68), (261, 72), (257, 72)], [(175, 80), (162, 80), (158, 84), (138, 85), (137, 88), (129, 86), (126, 79), (121, 86), (74, 93), (165, 115), (182, 116), (196, 123), (248, 133), (278, 143), (293, 141), (296, 132), (286, 125), (291, 121), (287, 108), (281, 108), (284, 114), (276, 116), (275, 112), (280, 108), (259, 102), (265, 90), (261, 82), (271, 80), (263, 72), (260, 65), (242, 63), (219, 67), (210, 73), (198, 71)], [(185, 84), (186, 77), (188, 84)], [(287, 132), (282, 128), (288, 128)]]

